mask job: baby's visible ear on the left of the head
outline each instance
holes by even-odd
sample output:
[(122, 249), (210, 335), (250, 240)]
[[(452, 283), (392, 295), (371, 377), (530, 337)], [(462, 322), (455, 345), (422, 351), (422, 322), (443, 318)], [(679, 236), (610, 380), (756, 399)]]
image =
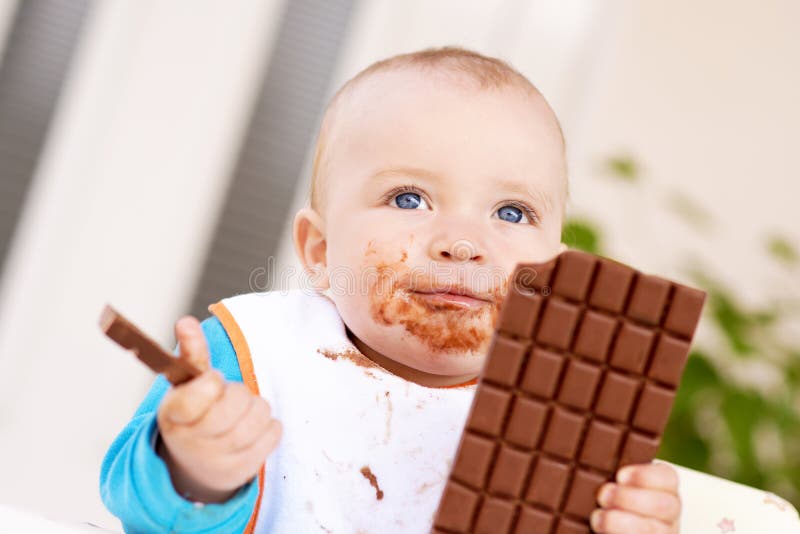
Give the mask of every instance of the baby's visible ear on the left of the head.
[(328, 242), (322, 217), (311, 208), (302, 208), (294, 216), (292, 237), (295, 253), (310, 277), (311, 285), (318, 291), (328, 289)]

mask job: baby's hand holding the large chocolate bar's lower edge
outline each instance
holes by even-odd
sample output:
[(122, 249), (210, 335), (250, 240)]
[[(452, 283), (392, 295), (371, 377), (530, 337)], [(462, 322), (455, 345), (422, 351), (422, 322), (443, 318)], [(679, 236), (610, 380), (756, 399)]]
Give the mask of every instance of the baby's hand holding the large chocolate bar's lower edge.
[(681, 515), (678, 473), (661, 463), (629, 465), (597, 494), (602, 508), (592, 512), (595, 532), (677, 534)]

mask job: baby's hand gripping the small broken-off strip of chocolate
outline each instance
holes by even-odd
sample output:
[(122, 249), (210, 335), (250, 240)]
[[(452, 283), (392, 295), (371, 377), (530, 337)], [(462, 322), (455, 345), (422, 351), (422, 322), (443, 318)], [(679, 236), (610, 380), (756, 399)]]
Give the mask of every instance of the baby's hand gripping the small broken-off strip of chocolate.
[(163, 439), (158, 454), (178, 493), (195, 501), (224, 502), (258, 473), (278, 445), (281, 425), (271, 417), (266, 400), (209, 369), (208, 346), (197, 319), (177, 321), (175, 335), (179, 357), (203, 373), (164, 396), (158, 408)]

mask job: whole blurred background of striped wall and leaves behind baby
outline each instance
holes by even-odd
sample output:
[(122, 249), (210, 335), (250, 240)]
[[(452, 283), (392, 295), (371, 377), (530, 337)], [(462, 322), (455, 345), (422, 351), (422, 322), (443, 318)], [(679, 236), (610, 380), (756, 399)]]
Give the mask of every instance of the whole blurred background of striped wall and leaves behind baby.
[(102, 306), (172, 347), (273, 287), (328, 98), (443, 45), (552, 104), (569, 244), (709, 292), (659, 457), (800, 505), (796, 0), (0, 0), (0, 503), (119, 528), (100, 462), (153, 376)]

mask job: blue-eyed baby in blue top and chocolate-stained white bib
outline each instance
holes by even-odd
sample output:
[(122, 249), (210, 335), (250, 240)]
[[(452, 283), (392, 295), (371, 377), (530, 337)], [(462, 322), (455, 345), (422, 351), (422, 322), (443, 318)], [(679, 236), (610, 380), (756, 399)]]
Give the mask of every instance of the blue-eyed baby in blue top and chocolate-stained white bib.
[[(507, 280), (564, 249), (567, 169), (544, 97), (507, 64), (395, 56), (326, 110), (295, 216), (310, 288), (175, 324), (180, 358), (103, 462), (127, 531), (428, 532)], [(266, 462), (266, 463), (265, 463)], [(629, 466), (596, 532), (678, 532), (675, 471)]]

